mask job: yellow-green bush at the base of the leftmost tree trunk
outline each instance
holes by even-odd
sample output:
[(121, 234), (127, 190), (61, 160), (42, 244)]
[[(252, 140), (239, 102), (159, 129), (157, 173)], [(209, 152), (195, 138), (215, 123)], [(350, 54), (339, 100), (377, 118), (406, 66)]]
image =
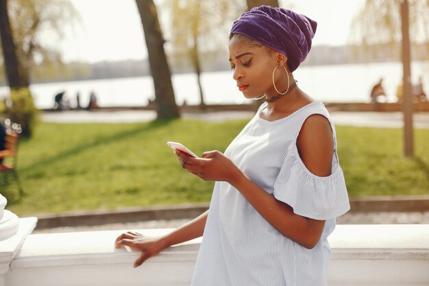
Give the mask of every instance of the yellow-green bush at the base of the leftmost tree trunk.
[(21, 124), (23, 129), (21, 136), (32, 135), (38, 119), (38, 110), (34, 106), (33, 97), (28, 88), (12, 88), (10, 105), (3, 102), (0, 108), (5, 117)]

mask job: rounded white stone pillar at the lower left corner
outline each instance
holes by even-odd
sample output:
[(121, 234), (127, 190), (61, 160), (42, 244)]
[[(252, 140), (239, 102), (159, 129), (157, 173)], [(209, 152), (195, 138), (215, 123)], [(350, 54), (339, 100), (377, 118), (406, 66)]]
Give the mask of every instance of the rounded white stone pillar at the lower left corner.
[(5, 210), (7, 203), (8, 200), (0, 194), (0, 286), (5, 286), (10, 263), (37, 223), (36, 217), (19, 219), (11, 211)]

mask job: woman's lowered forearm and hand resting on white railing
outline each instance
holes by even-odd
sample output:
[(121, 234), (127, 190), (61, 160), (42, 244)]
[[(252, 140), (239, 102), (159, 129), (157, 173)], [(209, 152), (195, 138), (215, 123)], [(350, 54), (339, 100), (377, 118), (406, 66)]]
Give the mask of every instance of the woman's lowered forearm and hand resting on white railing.
[(116, 239), (115, 247), (130, 246), (131, 248), (140, 250), (142, 254), (134, 262), (134, 267), (138, 267), (147, 259), (156, 256), (169, 246), (201, 237), (206, 226), (207, 215), (208, 211), (162, 237), (145, 237), (140, 235), (140, 233), (133, 232), (123, 233)]

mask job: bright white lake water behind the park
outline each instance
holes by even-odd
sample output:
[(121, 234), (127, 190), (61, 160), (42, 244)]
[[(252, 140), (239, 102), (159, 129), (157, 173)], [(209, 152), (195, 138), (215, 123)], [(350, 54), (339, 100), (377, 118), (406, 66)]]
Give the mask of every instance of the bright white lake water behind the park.
[[(423, 76), (424, 89), (428, 93), (429, 64), (413, 62), (411, 73), (413, 82)], [(402, 64), (384, 62), (303, 66), (295, 71), (294, 76), (303, 91), (322, 102), (369, 102), (369, 92), (373, 84), (383, 78), (387, 101), (395, 102), (397, 84), (402, 80)], [(232, 80), (232, 71), (202, 73), (201, 81), (206, 104), (251, 102), (238, 91)], [(190, 105), (199, 104), (195, 74), (173, 75), (172, 82), (177, 104), (181, 105), (184, 101)], [(82, 106), (88, 104), (90, 91), (95, 91), (98, 104), (102, 107), (145, 106), (149, 99), (154, 99), (154, 83), (150, 76), (32, 84), (30, 89), (37, 108), (52, 108), (53, 97), (62, 90), (66, 91), (71, 106), (75, 106), (77, 92), (80, 93)], [(0, 87), (0, 97), (5, 97), (8, 93), (8, 87)]]

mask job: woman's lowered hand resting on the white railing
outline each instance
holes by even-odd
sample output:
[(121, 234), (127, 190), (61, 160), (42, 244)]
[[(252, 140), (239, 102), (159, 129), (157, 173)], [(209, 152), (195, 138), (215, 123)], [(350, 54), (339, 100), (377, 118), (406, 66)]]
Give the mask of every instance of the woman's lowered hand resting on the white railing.
[(144, 237), (140, 233), (133, 233), (131, 231), (119, 235), (114, 241), (115, 248), (121, 248), (122, 246), (130, 246), (142, 252), (140, 257), (134, 262), (134, 267), (140, 266), (147, 259), (156, 256), (165, 248), (161, 237)]

